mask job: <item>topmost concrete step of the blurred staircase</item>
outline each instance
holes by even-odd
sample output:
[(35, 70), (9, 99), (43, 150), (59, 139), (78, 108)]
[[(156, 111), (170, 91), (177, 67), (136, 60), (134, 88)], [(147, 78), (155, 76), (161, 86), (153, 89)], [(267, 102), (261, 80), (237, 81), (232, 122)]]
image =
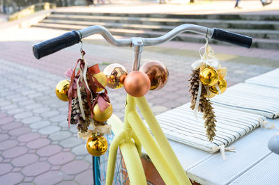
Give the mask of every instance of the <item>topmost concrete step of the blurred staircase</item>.
[(140, 14), (140, 13), (80, 13), (63, 12), (56, 10), (53, 14), (59, 15), (96, 15), (112, 17), (153, 17), (153, 18), (182, 18), (182, 19), (223, 19), (223, 20), (255, 20), (279, 21), (279, 15), (247, 15), (247, 14), (212, 14), (212, 15), (179, 15), (179, 14)]

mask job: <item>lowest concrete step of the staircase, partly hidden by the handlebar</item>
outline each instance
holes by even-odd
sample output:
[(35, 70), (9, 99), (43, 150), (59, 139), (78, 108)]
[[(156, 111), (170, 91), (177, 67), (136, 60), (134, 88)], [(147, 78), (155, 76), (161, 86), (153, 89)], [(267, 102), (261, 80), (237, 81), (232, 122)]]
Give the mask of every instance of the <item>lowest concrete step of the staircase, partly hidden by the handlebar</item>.
[[(63, 29), (63, 30), (79, 30), (84, 29), (88, 25), (70, 25), (70, 24), (51, 24), (51, 23), (39, 23), (34, 25), (34, 27), (48, 28), (48, 29)], [(162, 31), (142, 31), (136, 29), (112, 29), (108, 28), (112, 35), (121, 35), (126, 37), (142, 37), (142, 38), (156, 38), (164, 35), (165, 32)], [(173, 40), (186, 41), (186, 42), (204, 42), (204, 37), (202, 35), (192, 34), (192, 33), (182, 33)], [(216, 40), (211, 40), (211, 43), (229, 45), (225, 42), (218, 42)], [(279, 49), (279, 40), (270, 39), (254, 39), (252, 47), (264, 48), (264, 49)]]

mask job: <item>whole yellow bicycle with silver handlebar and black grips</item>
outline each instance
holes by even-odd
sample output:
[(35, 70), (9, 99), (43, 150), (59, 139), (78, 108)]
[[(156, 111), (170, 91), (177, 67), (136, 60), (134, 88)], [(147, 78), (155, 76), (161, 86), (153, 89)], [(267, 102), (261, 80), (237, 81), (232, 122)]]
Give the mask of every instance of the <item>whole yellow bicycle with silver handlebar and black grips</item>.
[[(182, 24), (158, 38), (130, 39), (115, 39), (105, 27), (90, 26), (80, 31), (70, 31), (57, 38), (40, 42), (38, 45), (33, 46), (33, 54), (39, 59), (43, 56), (53, 54), (60, 49), (75, 45), (82, 38), (86, 38), (89, 35), (100, 33), (112, 45), (133, 47), (135, 56), (132, 71), (137, 71), (140, 69), (140, 58), (144, 46), (162, 44), (163, 42), (172, 40), (172, 38), (184, 31), (198, 33), (205, 35), (206, 38), (229, 42), (241, 47), (250, 47), (252, 45), (252, 38), (248, 36), (229, 33), (222, 29), (209, 29), (194, 24)], [(137, 113), (136, 105), (140, 108), (151, 132)], [(190, 184), (186, 172), (176, 158), (172, 147), (169, 145), (162, 129), (160, 129), (160, 125), (144, 96), (132, 97), (131, 95), (127, 95), (124, 122), (117, 118), (116, 115), (112, 115), (107, 122), (112, 125), (112, 131), (115, 137), (110, 145), (106, 184), (112, 184), (118, 147), (120, 147), (121, 154), (126, 162), (130, 183), (146, 184), (144, 169), (140, 161), (142, 146), (166, 184)], [(98, 165), (96, 168), (98, 168)]]

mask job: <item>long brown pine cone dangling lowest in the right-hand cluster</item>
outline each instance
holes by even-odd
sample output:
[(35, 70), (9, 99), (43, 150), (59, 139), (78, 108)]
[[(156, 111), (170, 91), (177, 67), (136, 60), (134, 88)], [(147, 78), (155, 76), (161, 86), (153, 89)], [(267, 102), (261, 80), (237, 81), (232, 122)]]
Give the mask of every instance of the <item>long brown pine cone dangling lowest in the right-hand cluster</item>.
[(216, 136), (215, 112), (209, 99), (203, 100), (202, 103), (204, 104), (204, 127), (206, 127), (206, 136), (212, 142), (213, 137)]

